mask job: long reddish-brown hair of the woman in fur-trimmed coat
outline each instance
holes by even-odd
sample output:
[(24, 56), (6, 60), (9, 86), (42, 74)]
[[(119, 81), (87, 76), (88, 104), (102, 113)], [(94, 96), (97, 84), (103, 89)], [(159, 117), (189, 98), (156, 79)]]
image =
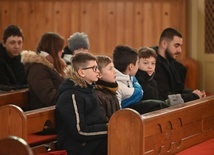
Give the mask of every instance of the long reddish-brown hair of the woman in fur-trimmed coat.
[(61, 74), (63, 74), (64, 64), (58, 56), (58, 52), (63, 49), (63, 46), (64, 38), (62, 36), (54, 32), (46, 32), (41, 36), (36, 49), (37, 53), (41, 51), (49, 53), (54, 60), (54, 67)]

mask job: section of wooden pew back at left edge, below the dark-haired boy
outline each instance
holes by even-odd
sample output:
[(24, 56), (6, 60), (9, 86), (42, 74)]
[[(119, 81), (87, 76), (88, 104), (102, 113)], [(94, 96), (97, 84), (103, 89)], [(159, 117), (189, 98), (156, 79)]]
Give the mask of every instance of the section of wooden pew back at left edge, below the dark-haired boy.
[(15, 104), (22, 109), (26, 109), (28, 105), (28, 92), (29, 89), (26, 88), (0, 93), (0, 106)]

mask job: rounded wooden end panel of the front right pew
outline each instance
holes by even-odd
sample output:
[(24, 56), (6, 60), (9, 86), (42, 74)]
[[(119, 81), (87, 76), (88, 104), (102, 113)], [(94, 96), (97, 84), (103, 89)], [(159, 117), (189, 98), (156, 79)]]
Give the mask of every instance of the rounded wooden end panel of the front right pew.
[(110, 148), (108, 154), (142, 155), (144, 152), (144, 146), (141, 145), (144, 143), (142, 123), (139, 113), (132, 109), (123, 109), (114, 113), (108, 125), (108, 147)]

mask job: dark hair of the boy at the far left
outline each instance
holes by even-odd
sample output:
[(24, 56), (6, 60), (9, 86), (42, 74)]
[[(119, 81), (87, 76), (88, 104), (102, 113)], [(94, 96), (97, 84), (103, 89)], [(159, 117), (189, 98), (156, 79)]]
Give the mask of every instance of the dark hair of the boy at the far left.
[(10, 36), (19, 36), (24, 40), (22, 30), (15, 25), (9, 25), (4, 29), (3, 41), (6, 42), (7, 38), (9, 38)]

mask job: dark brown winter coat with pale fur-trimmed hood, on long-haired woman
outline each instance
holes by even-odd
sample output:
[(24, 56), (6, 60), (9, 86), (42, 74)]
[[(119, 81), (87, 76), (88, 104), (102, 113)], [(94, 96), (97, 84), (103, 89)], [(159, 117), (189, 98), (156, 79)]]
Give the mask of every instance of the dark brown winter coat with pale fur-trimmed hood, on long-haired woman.
[(29, 110), (56, 104), (56, 95), (63, 77), (45, 57), (33, 51), (22, 52), (29, 84)]

